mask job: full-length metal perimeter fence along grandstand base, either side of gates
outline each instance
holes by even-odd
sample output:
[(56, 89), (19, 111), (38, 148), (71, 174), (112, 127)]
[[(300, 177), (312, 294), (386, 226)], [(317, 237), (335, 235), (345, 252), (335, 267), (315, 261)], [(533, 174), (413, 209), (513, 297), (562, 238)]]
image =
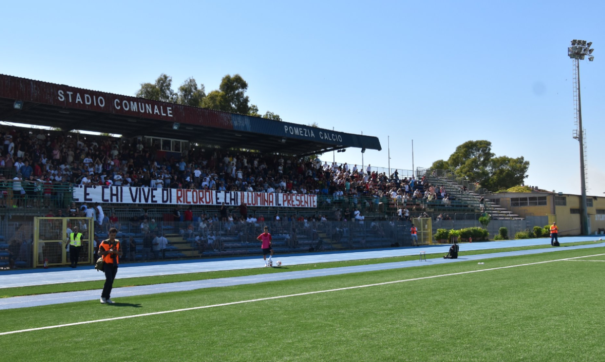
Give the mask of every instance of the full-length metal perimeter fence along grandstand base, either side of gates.
[[(480, 227), (475, 220), (432, 221), (413, 219), (403, 221), (258, 221), (222, 222), (210, 221), (135, 221), (118, 222), (111, 225), (95, 225), (94, 239), (97, 245), (107, 237), (108, 227), (119, 228), (117, 238), (122, 242), (123, 256), (120, 262), (145, 262), (152, 260), (201, 259), (220, 256), (260, 255), (257, 237), (263, 227), (269, 227), (272, 247), (277, 255), (312, 251), (356, 250), (369, 248), (405, 247), (411, 245), (411, 222), (419, 229), (420, 244), (430, 244), (437, 228), (461, 229)], [(51, 219), (52, 220), (52, 219)], [(154, 219), (155, 220), (155, 219)], [(525, 220), (492, 220), (488, 231), (490, 239), (500, 227), (508, 228), (510, 238), (517, 231), (531, 228)], [(427, 230), (425, 230), (425, 228)], [(47, 228), (45, 238), (55, 238), (62, 228)], [(89, 228), (90, 230), (90, 228)], [(428, 230), (432, 230), (429, 232)], [(425, 234), (423, 232), (427, 231)], [(422, 236), (422, 237), (421, 237)], [(162, 238), (165, 238), (163, 240)], [(34, 223), (0, 222), (0, 268), (31, 268), (42, 263), (53, 250), (45, 250), (48, 243), (34, 243)], [(51, 243), (52, 244), (52, 243)], [(60, 264), (65, 259), (64, 251), (56, 247)], [(53, 244), (53, 245), (54, 245)], [(162, 245), (165, 244), (165, 247)], [(36, 247), (36, 245), (38, 245)], [(52, 246), (52, 245), (51, 245)], [(37, 250), (33, 250), (37, 248)], [(50, 253), (50, 254), (49, 254)], [(49, 259), (49, 262), (53, 261)], [(94, 257), (93, 257), (94, 260)], [(82, 263), (90, 260), (82, 260)]]

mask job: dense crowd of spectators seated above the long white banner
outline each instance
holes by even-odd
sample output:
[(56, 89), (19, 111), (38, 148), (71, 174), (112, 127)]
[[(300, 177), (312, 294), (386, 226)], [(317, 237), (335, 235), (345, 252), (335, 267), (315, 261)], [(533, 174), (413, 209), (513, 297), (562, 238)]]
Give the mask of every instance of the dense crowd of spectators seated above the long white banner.
[(165, 152), (160, 140), (74, 132), (11, 128), (1, 136), (0, 207), (7, 206), (9, 193), (12, 207), (65, 207), (74, 185), (313, 194), (327, 208), (347, 201), (367, 212), (384, 202), (414, 211), (427, 201), (451, 205), (443, 186), (424, 177), (399, 178), (397, 170), (378, 173), (369, 165), (364, 172), (356, 164), (210, 147)]

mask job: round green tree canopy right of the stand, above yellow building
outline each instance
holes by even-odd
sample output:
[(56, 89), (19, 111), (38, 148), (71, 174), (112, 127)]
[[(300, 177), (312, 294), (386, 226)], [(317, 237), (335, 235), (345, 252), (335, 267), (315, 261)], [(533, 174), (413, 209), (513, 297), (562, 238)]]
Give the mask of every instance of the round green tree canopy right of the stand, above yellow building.
[(489, 141), (466, 141), (456, 147), (447, 161), (437, 160), (431, 169), (451, 170), (458, 176), (479, 182), (485, 189), (497, 191), (522, 184), (527, 177), (529, 161), (523, 157), (496, 157)]

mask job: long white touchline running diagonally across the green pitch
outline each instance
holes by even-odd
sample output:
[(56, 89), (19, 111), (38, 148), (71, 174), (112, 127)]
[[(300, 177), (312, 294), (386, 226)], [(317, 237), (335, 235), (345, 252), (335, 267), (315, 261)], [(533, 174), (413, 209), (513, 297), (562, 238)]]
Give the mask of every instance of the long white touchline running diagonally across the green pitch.
[(191, 308), (172, 309), (171, 311), (161, 311), (161, 312), (151, 312), (151, 313), (143, 313), (143, 314), (124, 315), (123, 317), (113, 317), (113, 318), (104, 318), (104, 319), (97, 319), (97, 320), (87, 320), (87, 321), (84, 321), (84, 322), (66, 323), (64, 325), (54, 325), (54, 326), (46, 326), (46, 327), (38, 327), (38, 328), (21, 329), (19, 331), (1, 332), (0, 335), (8, 335), (8, 334), (16, 334), (16, 333), (24, 333), (24, 332), (33, 332), (33, 331), (42, 331), (44, 329), (54, 329), (54, 328), (61, 328), (61, 327), (88, 325), (88, 324), (91, 324), (91, 323), (110, 322), (112, 320), (129, 319), (129, 318), (137, 318), (137, 317), (147, 317), (149, 315), (160, 315), (160, 314), (168, 314), (168, 313), (175, 313), (175, 312), (194, 311), (196, 309), (207, 309), (207, 308), (214, 308), (214, 307), (219, 307), (219, 306), (229, 306), (229, 305), (237, 305), (237, 304), (252, 303), (252, 302), (263, 302), (264, 300), (273, 300), (273, 299), (283, 299), (283, 298), (289, 298), (289, 297), (309, 296), (311, 294), (319, 294), (319, 293), (328, 293), (328, 292), (350, 290), (350, 289), (367, 288), (368, 286), (380, 286), (380, 285), (389, 285), (389, 284), (394, 284), (394, 283), (414, 282), (416, 280), (425, 280), (425, 279), (433, 279), (433, 278), (439, 278), (439, 277), (456, 276), (456, 275), (462, 275), (462, 274), (479, 273), (480, 271), (491, 271), (491, 270), (501, 270), (501, 269), (516, 268), (516, 267), (527, 267), (528, 265), (538, 265), (538, 264), (544, 264), (544, 263), (561, 262), (561, 261), (564, 261), (564, 260), (573, 260), (573, 259), (580, 259), (580, 258), (583, 258), (583, 257), (603, 256), (603, 255), (605, 255), (605, 254), (595, 254), (595, 255), (587, 255), (587, 256), (567, 257), (565, 259), (546, 260), (544, 262), (535, 262), (535, 263), (526, 263), (526, 264), (518, 264), (518, 265), (509, 265), (508, 267), (498, 267), (498, 268), (489, 268), (489, 269), (480, 269), (480, 270), (469, 270), (469, 271), (461, 271), (459, 273), (440, 274), (440, 275), (436, 275), (436, 276), (419, 277), (419, 278), (403, 279), (403, 280), (393, 280), (392, 282), (374, 283), (374, 284), (357, 285), (357, 286), (347, 286), (345, 288), (326, 289), (326, 290), (319, 290), (319, 291), (306, 292), (306, 293), (287, 294), (286, 296), (275, 296), (275, 297), (266, 297), (266, 298), (258, 298), (258, 299), (240, 300), (240, 302), (220, 303), (220, 304), (213, 304), (213, 305), (196, 306), (196, 307), (191, 307)]

